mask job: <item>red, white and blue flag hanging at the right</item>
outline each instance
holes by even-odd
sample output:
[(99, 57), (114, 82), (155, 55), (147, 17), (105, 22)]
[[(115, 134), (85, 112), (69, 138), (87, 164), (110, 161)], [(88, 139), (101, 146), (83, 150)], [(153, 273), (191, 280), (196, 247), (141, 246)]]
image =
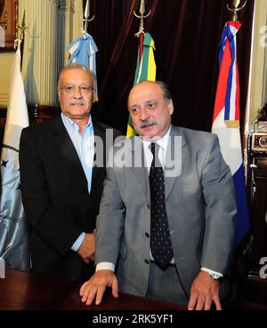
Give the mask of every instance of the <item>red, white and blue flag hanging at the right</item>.
[(237, 34), (239, 21), (228, 21), (220, 44), (220, 73), (214, 104), (212, 132), (218, 135), (225, 162), (231, 168), (238, 205), (235, 246), (249, 230), (247, 190), (240, 140), (239, 68), (237, 63)]

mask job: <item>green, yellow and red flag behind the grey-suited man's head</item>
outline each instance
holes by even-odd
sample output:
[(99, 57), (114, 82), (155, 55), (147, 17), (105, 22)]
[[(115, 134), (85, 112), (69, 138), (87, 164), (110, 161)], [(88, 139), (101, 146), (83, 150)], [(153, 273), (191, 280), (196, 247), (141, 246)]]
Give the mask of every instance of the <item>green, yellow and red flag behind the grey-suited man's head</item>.
[[(156, 62), (154, 58), (155, 44), (150, 33), (141, 33), (139, 36), (140, 44), (138, 49), (137, 65), (135, 69), (134, 84), (142, 81), (156, 80)], [(127, 125), (127, 138), (134, 136), (134, 127), (131, 116)]]

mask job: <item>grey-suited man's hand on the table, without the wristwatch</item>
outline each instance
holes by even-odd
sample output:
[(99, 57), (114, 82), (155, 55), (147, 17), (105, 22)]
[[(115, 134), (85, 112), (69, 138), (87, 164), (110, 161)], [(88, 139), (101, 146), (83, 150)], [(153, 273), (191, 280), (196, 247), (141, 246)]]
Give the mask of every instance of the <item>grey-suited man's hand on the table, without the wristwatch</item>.
[(96, 271), (91, 279), (86, 281), (80, 289), (82, 302), (86, 302), (86, 305), (91, 305), (95, 297), (95, 304), (99, 305), (107, 286), (112, 288), (112, 295), (117, 298), (118, 284), (115, 273), (112, 270)]

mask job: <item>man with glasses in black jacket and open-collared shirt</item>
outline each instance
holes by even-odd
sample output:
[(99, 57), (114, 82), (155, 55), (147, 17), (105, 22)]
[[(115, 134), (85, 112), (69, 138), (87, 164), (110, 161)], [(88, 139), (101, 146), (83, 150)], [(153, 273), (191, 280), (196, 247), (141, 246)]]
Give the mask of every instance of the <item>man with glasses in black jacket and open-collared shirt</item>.
[[(21, 193), (36, 273), (80, 281), (93, 274), (95, 219), (108, 147), (108, 126), (90, 115), (94, 84), (93, 72), (84, 66), (63, 68), (58, 83), (61, 116), (21, 133)], [(111, 147), (110, 134), (108, 139)], [(100, 163), (94, 163), (96, 157)]]

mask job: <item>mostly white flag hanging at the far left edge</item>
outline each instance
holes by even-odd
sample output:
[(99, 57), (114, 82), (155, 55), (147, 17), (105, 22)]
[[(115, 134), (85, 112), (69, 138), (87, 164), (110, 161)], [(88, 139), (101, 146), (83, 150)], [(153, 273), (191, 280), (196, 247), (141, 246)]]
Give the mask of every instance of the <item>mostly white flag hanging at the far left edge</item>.
[(28, 224), (21, 202), (19, 164), (20, 133), (28, 126), (28, 108), (20, 72), (20, 43), (12, 66), (0, 162), (0, 258), (4, 258), (7, 268), (28, 270)]

